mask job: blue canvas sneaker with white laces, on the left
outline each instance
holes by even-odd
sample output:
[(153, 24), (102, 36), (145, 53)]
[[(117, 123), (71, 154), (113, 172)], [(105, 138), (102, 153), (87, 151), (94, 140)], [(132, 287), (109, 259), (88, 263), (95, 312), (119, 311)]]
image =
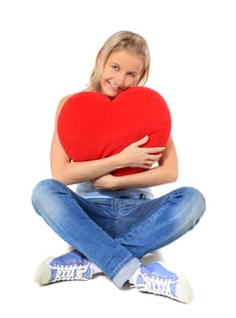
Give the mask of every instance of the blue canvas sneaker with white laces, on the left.
[(73, 250), (59, 257), (48, 257), (36, 270), (35, 282), (39, 284), (61, 281), (87, 280), (93, 271), (87, 258)]

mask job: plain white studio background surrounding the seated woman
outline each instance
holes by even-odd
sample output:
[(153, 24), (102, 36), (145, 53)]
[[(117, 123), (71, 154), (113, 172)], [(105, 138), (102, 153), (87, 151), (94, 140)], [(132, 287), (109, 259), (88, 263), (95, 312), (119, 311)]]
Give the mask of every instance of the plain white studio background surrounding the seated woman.
[[(2, 317), (235, 316), (234, 7), (233, 0), (1, 1)], [(56, 106), (87, 84), (98, 49), (123, 29), (147, 39), (147, 86), (172, 114), (180, 178), (154, 191), (193, 185), (207, 200), (200, 224), (156, 255), (189, 278), (189, 305), (120, 291), (104, 276), (33, 283), (38, 263), (67, 250), (31, 205), (33, 186), (50, 176)]]

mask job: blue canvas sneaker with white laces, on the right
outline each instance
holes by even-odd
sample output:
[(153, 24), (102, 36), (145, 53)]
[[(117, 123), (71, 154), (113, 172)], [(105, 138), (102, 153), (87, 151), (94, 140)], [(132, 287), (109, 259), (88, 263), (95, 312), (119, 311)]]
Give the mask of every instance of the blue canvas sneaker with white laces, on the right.
[(190, 284), (181, 275), (170, 272), (163, 263), (141, 266), (134, 287), (139, 292), (155, 293), (181, 303), (190, 303), (193, 293)]

